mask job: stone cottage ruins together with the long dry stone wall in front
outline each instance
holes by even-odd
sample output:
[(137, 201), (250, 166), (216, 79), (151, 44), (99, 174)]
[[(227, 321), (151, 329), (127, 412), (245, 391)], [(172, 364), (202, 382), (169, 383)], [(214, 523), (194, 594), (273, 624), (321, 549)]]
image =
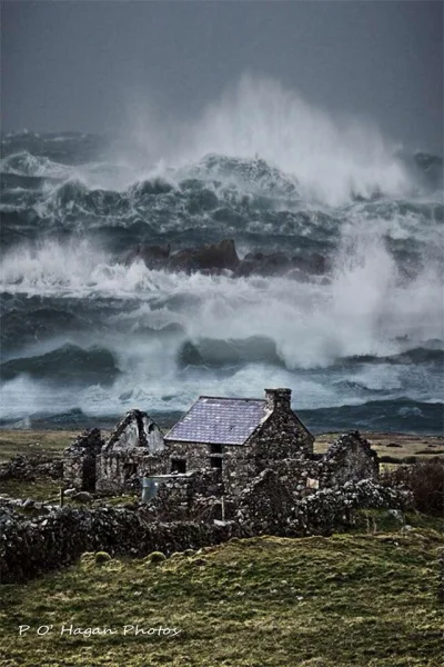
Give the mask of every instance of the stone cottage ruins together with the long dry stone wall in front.
[(65, 450), (64, 485), (101, 495), (138, 490), (139, 500), (88, 509), (34, 504), (30, 517), (0, 499), (3, 580), (68, 565), (87, 550), (169, 555), (231, 537), (330, 535), (353, 526), (356, 509), (411, 505), (407, 492), (379, 484), (377, 457), (357, 431), (314, 455), (290, 399), (290, 389), (266, 389), (262, 400), (200, 397), (165, 437), (140, 410), (105, 442), (98, 429), (85, 431)]

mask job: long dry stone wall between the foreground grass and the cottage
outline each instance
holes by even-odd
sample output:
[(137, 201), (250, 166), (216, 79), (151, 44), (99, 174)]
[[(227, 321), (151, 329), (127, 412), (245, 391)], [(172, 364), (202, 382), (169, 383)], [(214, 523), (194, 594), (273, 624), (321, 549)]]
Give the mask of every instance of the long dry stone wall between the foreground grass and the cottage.
[[(220, 499), (203, 499), (211, 512)], [(67, 566), (84, 551), (105, 550), (111, 556), (142, 557), (159, 550), (165, 555), (186, 548), (219, 544), (230, 537), (270, 534), (296, 537), (330, 535), (353, 525), (357, 508), (404, 509), (405, 491), (364, 480), (346, 482), (342, 490), (323, 489), (300, 498), (273, 470), (265, 470), (242, 494), (234, 520), (225, 522), (162, 522), (155, 508), (134, 510), (49, 508), (27, 518), (4, 500), (0, 502), (0, 580), (21, 581)]]

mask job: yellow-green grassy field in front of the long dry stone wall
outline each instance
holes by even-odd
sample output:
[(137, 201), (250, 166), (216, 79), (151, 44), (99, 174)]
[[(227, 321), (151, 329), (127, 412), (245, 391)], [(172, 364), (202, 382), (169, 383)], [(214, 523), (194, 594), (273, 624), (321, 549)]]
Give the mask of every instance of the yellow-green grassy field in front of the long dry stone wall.
[[(3, 586), (3, 667), (437, 667), (441, 536), (259, 537)], [(19, 626), (31, 629), (19, 637)], [(117, 630), (61, 636), (62, 627)], [(39, 626), (53, 626), (38, 637)], [(176, 628), (176, 636), (123, 634)]]

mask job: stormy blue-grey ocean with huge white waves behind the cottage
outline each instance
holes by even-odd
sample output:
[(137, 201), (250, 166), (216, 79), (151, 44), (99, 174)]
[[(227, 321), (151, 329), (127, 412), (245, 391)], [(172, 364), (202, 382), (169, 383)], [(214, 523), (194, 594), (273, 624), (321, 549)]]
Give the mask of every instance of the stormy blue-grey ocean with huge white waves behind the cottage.
[[(291, 387), (314, 431), (443, 429), (442, 158), (248, 83), (181, 127), (1, 137), (1, 425), (161, 422)], [(234, 239), (327, 269), (125, 262)]]

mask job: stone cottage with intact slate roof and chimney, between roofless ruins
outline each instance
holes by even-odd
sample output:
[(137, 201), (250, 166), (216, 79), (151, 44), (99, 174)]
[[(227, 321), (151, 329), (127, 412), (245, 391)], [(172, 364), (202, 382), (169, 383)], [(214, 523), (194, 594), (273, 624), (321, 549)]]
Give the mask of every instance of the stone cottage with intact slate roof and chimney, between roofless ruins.
[(314, 438), (291, 409), (290, 389), (264, 399), (201, 396), (164, 438), (170, 471), (216, 469), (224, 492), (239, 494), (266, 468), (293, 475)]

